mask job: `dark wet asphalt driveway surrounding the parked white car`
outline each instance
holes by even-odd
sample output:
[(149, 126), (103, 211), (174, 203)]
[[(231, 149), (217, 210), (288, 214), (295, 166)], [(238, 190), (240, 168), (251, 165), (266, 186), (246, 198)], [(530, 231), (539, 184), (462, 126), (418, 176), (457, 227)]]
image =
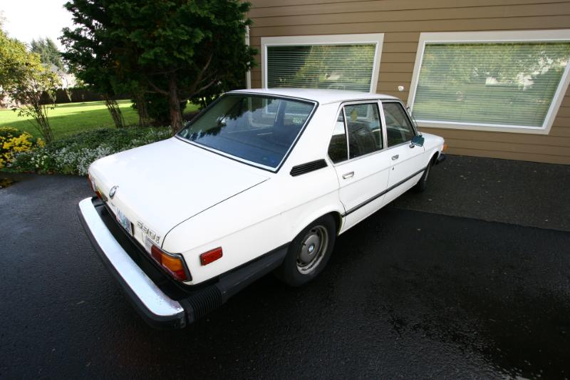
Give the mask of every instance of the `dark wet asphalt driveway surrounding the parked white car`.
[(0, 190), (0, 379), (570, 377), (560, 228), (400, 200), (339, 237), (308, 286), (267, 276), (207, 319), (161, 332), (95, 257), (76, 215), (88, 195), (74, 177)]

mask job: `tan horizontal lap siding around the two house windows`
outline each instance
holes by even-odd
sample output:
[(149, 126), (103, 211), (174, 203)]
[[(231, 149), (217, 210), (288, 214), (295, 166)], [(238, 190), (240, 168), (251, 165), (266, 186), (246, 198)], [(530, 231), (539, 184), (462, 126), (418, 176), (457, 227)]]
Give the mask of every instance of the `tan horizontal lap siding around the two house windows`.
[[(383, 33), (378, 93), (408, 101), (420, 33), (570, 29), (564, 0), (249, 0), (250, 44), (261, 37)], [(256, 57), (261, 62), (261, 54)], [(261, 67), (251, 73), (261, 87)], [(405, 91), (398, 91), (404, 86)], [(570, 165), (570, 91), (548, 135), (421, 128), (445, 138), (448, 153)]]

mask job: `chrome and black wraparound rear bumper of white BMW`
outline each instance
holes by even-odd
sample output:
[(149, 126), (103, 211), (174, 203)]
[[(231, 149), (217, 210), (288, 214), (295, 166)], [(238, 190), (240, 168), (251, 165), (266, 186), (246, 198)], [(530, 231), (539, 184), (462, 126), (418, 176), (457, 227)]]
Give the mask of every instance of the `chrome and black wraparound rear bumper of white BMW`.
[[(166, 278), (166, 274), (160, 274), (164, 278), (159, 278), (157, 272), (152, 272), (148, 266), (138, 265), (140, 258), (137, 255), (140, 252), (135, 252), (138, 251), (135, 245), (129, 245), (128, 242), (125, 244), (124, 238), (115, 237), (116, 232), (114, 235), (105, 224), (103, 214), (106, 210), (102, 202), (97, 198), (86, 198), (79, 202), (78, 207), (81, 223), (98, 256), (135, 309), (152, 327), (185, 327), (217, 309), (239, 290), (281, 265), (286, 255), (287, 247), (279, 247), (258, 260), (223, 274), (214, 283), (196, 285), (199, 288), (197, 290), (190, 287), (184, 291), (177, 289), (176, 297), (172, 297), (165, 291), (165, 284), (171, 285), (172, 279)], [(145, 267), (146, 272), (142, 267)]]

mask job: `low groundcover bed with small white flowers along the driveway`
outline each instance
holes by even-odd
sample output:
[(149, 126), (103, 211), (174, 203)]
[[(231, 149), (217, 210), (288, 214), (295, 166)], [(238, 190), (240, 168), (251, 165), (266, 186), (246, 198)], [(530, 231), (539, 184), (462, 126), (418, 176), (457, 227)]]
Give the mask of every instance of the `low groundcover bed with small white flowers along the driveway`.
[(89, 165), (98, 158), (170, 136), (168, 127), (90, 130), (56, 140), (43, 148), (19, 153), (9, 165), (9, 170), (86, 175)]

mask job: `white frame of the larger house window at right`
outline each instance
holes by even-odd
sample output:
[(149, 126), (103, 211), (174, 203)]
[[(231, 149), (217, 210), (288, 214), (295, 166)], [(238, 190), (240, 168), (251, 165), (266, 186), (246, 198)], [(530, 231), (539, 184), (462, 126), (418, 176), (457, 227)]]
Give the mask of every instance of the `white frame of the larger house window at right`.
[[(427, 43), (486, 43), (486, 42), (554, 42), (570, 41), (570, 29), (549, 31), (474, 31), (474, 32), (442, 32), (422, 33), (418, 43), (418, 53), (415, 57), (415, 66), (408, 95), (408, 106), (413, 110), (415, 92), (418, 89), (418, 77), (422, 67), (423, 53)], [(528, 125), (504, 125), (485, 123), (460, 123), (454, 121), (417, 120), (420, 127), (425, 128), (451, 128), (465, 130), (484, 130), (492, 132), (535, 133), (547, 135), (552, 128), (556, 113), (560, 108), (564, 94), (570, 82), (570, 61), (564, 69), (554, 98), (550, 103), (544, 122), (539, 127)], [(451, 105), (450, 105), (451, 106)]]

